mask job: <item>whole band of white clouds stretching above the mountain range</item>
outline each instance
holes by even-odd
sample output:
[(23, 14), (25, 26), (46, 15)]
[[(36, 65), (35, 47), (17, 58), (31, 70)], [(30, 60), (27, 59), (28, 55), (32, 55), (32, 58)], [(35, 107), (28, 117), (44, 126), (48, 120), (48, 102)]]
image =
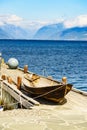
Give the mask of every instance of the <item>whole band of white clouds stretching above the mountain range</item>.
[(4, 24), (13, 24), (31, 31), (37, 30), (44, 25), (55, 24), (63, 22), (66, 28), (71, 28), (75, 26), (87, 26), (87, 15), (80, 15), (74, 19), (70, 20), (53, 20), (53, 21), (30, 21), (28, 19), (23, 19), (15, 14), (13, 15), (0, 15), (0, 26)]

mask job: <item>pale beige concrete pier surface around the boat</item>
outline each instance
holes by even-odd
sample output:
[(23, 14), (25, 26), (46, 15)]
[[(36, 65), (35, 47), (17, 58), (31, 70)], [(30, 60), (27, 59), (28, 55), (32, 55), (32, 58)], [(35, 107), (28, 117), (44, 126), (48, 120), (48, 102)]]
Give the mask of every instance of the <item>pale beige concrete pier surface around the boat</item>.
[[(22, 80), (25, 76), (25, 73), (20, 69), (8, 69), (5, 64), (1, 67), (1, 74), (12, 77), (15, 84), (18, 76)], [(7, 81), (3, 81), (3, 83), (9, 85)], [(15, 85), (10, 84), (9, 86), (14, 86), (17, 89)], [(64, 105), (43, 102), (39, 106), (34, 106), (32, 110), (21, 109), (6, 111), (5, 114), (0, 113), (1, 118), (3, 115), (5, 116), (0, 121), (0, 128), (13, 128), (14, 130), (87, 130), (87, 93), (72, 89), (65, 98), (67, 102)], [(2, 125), (2, 122), (8, 125)]]

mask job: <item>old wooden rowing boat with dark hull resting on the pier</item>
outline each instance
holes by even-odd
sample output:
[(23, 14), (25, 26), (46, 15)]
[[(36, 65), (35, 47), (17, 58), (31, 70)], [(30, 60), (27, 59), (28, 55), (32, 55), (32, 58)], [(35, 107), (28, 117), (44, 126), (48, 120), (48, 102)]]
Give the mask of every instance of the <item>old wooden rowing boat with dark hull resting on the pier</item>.
[(38, 76), (36, 74), (25, 75), (23, 80), (25, 90), (35, 98), (43, 97), (54, 102), (62, 102), (65, 95), (71, 90), (72, 84), (64, 84), (56, 80)]

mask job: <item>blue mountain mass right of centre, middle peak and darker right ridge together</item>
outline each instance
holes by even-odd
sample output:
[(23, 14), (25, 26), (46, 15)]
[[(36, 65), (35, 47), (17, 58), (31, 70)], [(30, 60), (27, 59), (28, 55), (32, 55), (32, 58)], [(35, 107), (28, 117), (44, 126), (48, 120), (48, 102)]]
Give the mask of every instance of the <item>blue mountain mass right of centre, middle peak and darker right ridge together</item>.
[(40, 28), (34, 39), (42, 40), (87, 40), (87, 26), (65, 28), (63, 23)]

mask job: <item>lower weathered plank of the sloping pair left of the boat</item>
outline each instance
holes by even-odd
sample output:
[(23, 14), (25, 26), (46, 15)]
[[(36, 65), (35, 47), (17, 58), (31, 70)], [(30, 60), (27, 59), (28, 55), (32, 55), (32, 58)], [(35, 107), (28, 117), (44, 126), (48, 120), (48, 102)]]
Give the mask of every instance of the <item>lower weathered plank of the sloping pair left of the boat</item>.
[(25, 108), (30, 108), (33, 106), (32, 103), (30, 103), (28, 100), (24, 99), (21, 95), (16, 93), (14, 90), (12, 90), (9, 86), (6, 84), (3, 84), (3, 89), (7, 91), (13, 98), (15, 98), (19, 103), (22, 103), (22, 105)]

